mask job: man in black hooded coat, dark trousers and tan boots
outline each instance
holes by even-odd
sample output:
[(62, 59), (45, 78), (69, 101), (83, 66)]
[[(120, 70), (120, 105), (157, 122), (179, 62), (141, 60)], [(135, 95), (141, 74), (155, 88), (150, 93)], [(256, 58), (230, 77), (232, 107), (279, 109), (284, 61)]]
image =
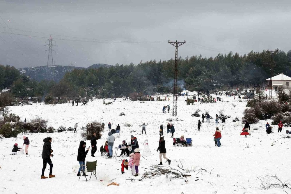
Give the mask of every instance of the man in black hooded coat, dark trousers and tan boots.
[(45, 168), (47, 167), (47, 163), (49, 164), (49, 178), (53, 178), (55, 177), (55, 175), (52, 175), (53, 172), (53, 163), (50, 157), (54, 156), (52, 154), (52, 138), (51, 137), (47, 137), (45, 139), (43, 139), (43, 142), (45, 142), (43, 144), (42, 147), (42, 163), (43, 163), (43, 167), (42, 167), (42, 172), (41, 172), (41, 179), (47, 179), (47, 177), (44, 176), (45, 174)]

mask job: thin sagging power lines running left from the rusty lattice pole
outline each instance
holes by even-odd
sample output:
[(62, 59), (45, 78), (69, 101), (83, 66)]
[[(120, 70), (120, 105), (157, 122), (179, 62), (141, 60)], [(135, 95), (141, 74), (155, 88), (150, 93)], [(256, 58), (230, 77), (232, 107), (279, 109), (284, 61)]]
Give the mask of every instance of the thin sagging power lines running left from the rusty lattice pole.
[[(6, 27), (0, 27), (0, 28), (6, 28)], [(19, 31), (25, 31), (25, 32), (32, 32), (32, 33), (40, 33), (40, 34), (46, 34), (46, 35), (52, 35), (52, 36), (61, 36), (61, 37), (67, 37), (67, 38), (79, 38), (79, 39), (86, 39), (86, 40), (94, 40), (95, 42), (105, 42), (105, 43), (165, 43), (166, 41), (126, 41), (126, 40), (101, 40), (101, 39), (95, 39), (95, 38), (83, 38), (83, 37), (75, 37), (75, 36), (64, 36), (64, 35), (58, 35), (58, 34), (49, 34), (49, 33), (42, 33), (42, 32), (35, 32), (35, 31), (29, 31), (29, 30), (20, 30), (20, 29), (15, 29), (11, 28), (13, 30), (19, 30)], [(6, 31), (7, 32), (7, 31)], [(4, 32), (2, 32), (4, 33)], [(17, 34), (17, 35), (22, 35), (22, 36), (29, 36), (29, 35), (24, 35), (24, 34)], [(38, 37), (38, 38), (44, 38), (44, 37), (39, 37), (39, 36), (31, 36), (31, 37)], [(58, 40), (71, 40), (71, 39), (61, 39), (61, 38), (54, 38)], [(74, 41), (81, 41), (81, 40), (74, 40)], [(84, 42), (90, 42), (90, 41), (84, 41)]]

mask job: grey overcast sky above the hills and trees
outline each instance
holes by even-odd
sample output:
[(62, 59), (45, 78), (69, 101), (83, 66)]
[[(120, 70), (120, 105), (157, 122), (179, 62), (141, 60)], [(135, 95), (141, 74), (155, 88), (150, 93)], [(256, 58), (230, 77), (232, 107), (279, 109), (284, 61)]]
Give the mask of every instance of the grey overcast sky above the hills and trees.
[(290, 0), (59, 1), (0, 0), (0, 64), (47, 65), (50, 34), (56, 65), (80, 67), (168, 60), (168, 40), (183, 58), (290, 50)]

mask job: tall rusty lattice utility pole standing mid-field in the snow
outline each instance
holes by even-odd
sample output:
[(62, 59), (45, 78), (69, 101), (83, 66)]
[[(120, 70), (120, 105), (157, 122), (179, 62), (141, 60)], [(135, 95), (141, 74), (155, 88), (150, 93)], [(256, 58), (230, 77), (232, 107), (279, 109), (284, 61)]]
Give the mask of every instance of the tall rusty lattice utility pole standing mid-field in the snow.
[(177, 100), (178, 100), (178, 86), (177, 86), (177, 82), (178, 82), (178, 47), (185, 44), (186, 41), (184, 40), (184, 42), (178, 42), (176, 40), (176, 42), (170, 42), (170, 40), (168, 41), (168, 43), (170, 43), (171, 45), (176, 47), (176, 52), (175, 52), (175, 75), (174, 75), (174, 87), (173, 87), (173, 116), (177, 116)]

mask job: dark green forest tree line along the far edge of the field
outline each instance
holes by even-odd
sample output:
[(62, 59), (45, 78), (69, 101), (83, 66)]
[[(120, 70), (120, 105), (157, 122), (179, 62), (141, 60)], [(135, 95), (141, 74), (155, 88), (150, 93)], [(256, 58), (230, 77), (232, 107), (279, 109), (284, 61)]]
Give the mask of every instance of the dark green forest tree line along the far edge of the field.
[[(291, 50), (279, 51), (273, 56), (274, 74), (291, 76)], [(99, 69), (74, 69), (63, 79), (53, 81), (31, 80), (17, 69), (0, 65), (0, 87), (10, 88), (19, 98), (42, 98), (50, 95), (72, 99), (96, 96), (122, 97), (131, 93), (171, 93), (173, 87), (174, 59), (150, 60), (137, 65), (118, 65)], [(248, 54), (218, 54), (203, 58), (192, 56), (178, 58), (178, 84), (180, 90), (190, 91), (230, 89), (239, 85), (262, 85), (271, 77), (271, 54), (249, 52)]]

